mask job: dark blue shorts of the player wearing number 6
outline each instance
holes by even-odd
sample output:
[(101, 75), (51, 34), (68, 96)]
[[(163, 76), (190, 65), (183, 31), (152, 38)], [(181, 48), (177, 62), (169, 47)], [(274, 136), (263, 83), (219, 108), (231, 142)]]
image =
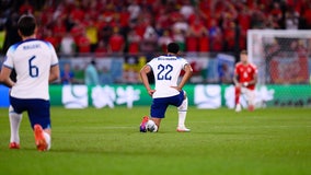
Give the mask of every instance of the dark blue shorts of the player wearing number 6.
[(43, 129), (50, 128), (49, 101), (38, 98), (23, 100), (10, 96), (10, 104), (18, 114), (27, 112), (32, 128), (36, 124), (39, 124)]

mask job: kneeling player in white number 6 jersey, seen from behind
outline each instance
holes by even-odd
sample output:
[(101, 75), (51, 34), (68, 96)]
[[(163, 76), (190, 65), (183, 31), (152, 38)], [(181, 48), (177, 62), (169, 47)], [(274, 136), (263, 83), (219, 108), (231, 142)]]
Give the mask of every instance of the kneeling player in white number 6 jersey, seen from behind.
[[(22, 113), (27, 112), (38, 151), (50, 148), (50, 103), (48, 84), (59, 78), (58, 58), (50, 43), (36, 39), (36, 21), (22, 15), (18, 22), (22, 42), (12, 45), (5, 56), (0, 82), (10, 91), (10, 149), (20, 149), (19, 127)], [(12, 70), (16, 82), (10, 79)]]

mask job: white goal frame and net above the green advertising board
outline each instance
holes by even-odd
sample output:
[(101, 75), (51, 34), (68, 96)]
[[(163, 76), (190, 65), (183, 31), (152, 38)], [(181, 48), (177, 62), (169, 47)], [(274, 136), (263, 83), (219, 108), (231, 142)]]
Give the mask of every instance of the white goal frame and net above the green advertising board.
[(258, 84), (309, 84), (311, 31), (249, 30), (247, 52)]

